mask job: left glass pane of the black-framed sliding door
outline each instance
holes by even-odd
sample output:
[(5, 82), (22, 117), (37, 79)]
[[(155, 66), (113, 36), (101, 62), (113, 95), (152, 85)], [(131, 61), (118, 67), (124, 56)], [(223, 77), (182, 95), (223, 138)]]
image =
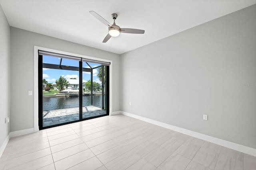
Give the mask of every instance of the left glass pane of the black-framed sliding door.
[[(49, 64), (55, 64), (56, 59), (43, 56), (43, 61)], [(79, 61), (68, 61), (79, 64)], [(79, 120), (78, 71), (43, 68), (42, 90), (43, 127)]]

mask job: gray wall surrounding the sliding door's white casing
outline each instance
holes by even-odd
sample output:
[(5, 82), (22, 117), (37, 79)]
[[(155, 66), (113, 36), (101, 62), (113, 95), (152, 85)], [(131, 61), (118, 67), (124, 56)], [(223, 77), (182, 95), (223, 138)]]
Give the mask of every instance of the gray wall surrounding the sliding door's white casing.
[(120, 55), (11, 27), (11, 131), (34, 127), (34, 45), (113, 61), (113, 111), (120, 110)]

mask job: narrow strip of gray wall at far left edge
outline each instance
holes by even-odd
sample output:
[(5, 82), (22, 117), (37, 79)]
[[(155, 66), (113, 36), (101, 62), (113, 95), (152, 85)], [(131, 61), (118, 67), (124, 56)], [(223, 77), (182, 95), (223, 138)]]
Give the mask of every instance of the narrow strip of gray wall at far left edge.
[(0, 147), (10, 133), (10, 26), (0, 6)]

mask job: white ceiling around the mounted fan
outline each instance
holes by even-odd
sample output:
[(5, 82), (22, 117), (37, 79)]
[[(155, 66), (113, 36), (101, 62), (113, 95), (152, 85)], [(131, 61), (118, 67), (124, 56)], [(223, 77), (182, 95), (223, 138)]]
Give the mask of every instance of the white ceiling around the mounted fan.
[[(0, 0), (12, 27), (49, 35), (122, 54), (196, 25), (230, 14), (256, 0)], [(121, 33), (102, 43), (108, 27), (95, 11), (121, 28), (144, 29), (144, 34)]]

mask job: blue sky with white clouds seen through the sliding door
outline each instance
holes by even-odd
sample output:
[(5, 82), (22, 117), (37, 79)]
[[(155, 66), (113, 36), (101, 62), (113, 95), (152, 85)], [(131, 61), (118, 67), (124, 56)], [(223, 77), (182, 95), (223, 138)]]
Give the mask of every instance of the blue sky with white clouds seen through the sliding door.
[[(43, 56), (43, 63), (48, 64), (60, 64), (60, 58), (58, 57), (48, 57)], [(92, 68), (96, 66), (100, 66), (100, 64), (95, 63), (88, 63)], [(62, 64), (64, 66), (79, 66), (79, 61), (70, 60), (70, 59), (62, 59)], [(90, 68), (85, 62), (83, 62), (84, 68)], [(99, 78), (97, 77), (98, 69), (93, 69), (93, 81), (100, 83)], [(59, 70), (59, 69), (51, 69), (51, 68), (43, 68), (43, 78), (46, 79), (48, 83), (55, 83), (55, 81), (60, 78), (60, 76), (63, 76), (66, 78), (66, 80), (70, 78), (76, 78), (79, 79), (79, 72), (78, 71), (72, 71), (72, 70)], [(90, 72), (83, 72), (83, 82), (86, 82), (87, 80), (90, 80)]]

